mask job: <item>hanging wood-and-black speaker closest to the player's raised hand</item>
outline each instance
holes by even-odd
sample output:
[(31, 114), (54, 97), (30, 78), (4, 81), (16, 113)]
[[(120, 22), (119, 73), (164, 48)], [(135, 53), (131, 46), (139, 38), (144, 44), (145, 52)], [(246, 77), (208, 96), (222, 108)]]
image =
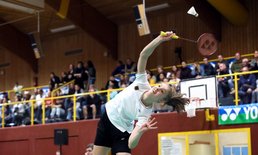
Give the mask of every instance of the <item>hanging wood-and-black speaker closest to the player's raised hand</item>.
[(145, 16), (143, 4), (133, 6), (133, 9), (134, 9), (134, 16), (136, 18), (139, 35), (142, 36), (142, 35), (149, 34), (150, 33), (149, 25), (148, 25), (147, 18)]

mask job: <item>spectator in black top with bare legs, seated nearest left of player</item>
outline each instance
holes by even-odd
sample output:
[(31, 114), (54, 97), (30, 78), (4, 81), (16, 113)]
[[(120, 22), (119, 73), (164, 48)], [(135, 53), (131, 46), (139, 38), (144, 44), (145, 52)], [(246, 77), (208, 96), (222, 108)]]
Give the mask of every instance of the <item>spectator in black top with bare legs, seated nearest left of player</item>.
[[(89, 92), (95, 92), (94, 89), (90, 89)], [(84, 119), (88, 119), (88, 114), (92, 114), (93, 119), (96, 118), (96, 114), (100, 112), (101, 99), (96, 94), (89, 94), (86, 96), (86, 101), (83, 101), (83, 115)]]

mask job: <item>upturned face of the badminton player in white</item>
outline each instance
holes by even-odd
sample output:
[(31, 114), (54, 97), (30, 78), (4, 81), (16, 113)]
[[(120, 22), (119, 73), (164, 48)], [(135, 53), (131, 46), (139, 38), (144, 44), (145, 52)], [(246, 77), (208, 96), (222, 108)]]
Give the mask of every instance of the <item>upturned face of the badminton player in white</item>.
[(167, 84), (160, 84), (152, 87), (148, 93), (152, 99), (155, 99), (158, 102), (160, 99), (164, 99), (169, 94), (169, 91), (169, 86)]

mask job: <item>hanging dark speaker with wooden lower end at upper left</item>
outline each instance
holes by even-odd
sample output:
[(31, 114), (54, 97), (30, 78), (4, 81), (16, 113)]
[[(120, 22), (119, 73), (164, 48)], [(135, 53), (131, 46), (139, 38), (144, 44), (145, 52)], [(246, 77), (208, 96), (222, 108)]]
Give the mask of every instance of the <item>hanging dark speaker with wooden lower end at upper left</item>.
[(35, 53), (36, 58), (37, 59), (40, 58), (42, 49), (41, 49), (40, 38), (39, 38), (38, 32), (29, 33), (29, 39), (30, 39), (32, 49)]

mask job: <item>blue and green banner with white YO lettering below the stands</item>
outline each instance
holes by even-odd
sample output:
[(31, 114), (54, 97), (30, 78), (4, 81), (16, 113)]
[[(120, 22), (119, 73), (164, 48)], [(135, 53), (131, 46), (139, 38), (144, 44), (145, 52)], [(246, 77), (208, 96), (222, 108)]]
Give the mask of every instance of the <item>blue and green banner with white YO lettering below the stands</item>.
[(218, 108), (218, 124), (257, 123), (258, 103)]

